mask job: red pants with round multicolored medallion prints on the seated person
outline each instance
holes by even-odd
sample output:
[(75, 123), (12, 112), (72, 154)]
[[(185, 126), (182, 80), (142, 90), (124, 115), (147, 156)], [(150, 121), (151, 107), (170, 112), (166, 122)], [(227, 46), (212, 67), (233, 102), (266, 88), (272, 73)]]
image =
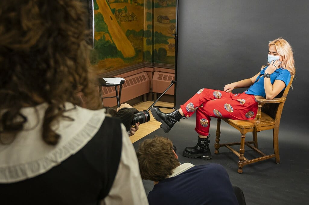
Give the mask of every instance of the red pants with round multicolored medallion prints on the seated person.
[(186, 103), (180, 105), (180, 108), (186, 118), (196, 112), (195, 131), (207, 136), (210, 117), (253, 120), (256, 116), (257, 105), (253, 95), (203, 88)]

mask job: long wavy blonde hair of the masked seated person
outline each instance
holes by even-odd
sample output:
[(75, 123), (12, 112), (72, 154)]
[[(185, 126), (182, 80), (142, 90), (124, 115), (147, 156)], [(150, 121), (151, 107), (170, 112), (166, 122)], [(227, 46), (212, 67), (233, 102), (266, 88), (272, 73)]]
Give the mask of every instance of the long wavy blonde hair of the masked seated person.
[(275, 45), (277, 53), (283, 57), (281, 68), (290, 71), (291, 75), (295, 75), (293, 50), (290, 44), (280, 37), (270, 41), (268, 47), (271, 45)]

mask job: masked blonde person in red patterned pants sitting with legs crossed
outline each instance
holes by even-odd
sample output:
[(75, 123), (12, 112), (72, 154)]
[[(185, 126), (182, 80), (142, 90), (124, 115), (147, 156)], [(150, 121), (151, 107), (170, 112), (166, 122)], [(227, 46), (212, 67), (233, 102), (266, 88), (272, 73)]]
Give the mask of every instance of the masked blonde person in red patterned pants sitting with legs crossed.
[[(268, 66), (251, 78), (224, 86), (223, 91), (207, 88), (200, 89), (178, 110), (163, 113), (159, 108), (151, 108), (154, 118), (161, 122), (164, 132), (169, 132), (181, 118), (188, 118), (196, 112), (198, 142), (194, 147), (185, 148), (185, 157), (210, 159), (209, 125), (210, 117), (230, 118), (233, 120), (253, 120), (256, 117), (256, 100), (276, 97), (295, 75), (293, 51), (290, 44), (282, 39), (275, 39), (268, 44)], [(249, 87), (250, 86), (250, 87)], [(235, 87), (249, 87), (243, 93), (232, 93)]]

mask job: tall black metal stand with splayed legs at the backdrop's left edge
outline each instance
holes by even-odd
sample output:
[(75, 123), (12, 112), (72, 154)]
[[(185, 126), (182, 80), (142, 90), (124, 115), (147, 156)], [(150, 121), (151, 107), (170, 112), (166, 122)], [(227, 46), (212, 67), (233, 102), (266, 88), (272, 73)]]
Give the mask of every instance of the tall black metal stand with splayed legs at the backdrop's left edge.
[[(168, 109), (176, 109), (176, 87), (177, 87), (177, 51), (178, 51), (178, 0), (176, 0), (176, 28), (175, 28), (175, 34), (173, 34), (175, 39), (175, 80), (171, 81), (171, 84), (166, 88), (166, 90), (158, 97), (158, 99), (150, 105), (150, 107), (147, 109), (149, 111), (152, 107), (159, 107), (159, 108), (168, 108)], [(154, 106), (159, 99), (167, 92), (168, 89), (172, 87), (172, 85), (175, 84), (174, 87), (174, 106), (171, 107), (163, 107), (163, 106)]]

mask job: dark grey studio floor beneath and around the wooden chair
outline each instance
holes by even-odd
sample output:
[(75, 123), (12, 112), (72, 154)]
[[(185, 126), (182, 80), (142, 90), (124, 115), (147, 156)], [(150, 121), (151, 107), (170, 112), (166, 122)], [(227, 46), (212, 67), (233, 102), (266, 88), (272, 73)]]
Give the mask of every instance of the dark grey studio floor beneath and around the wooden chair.
[[(279, 131), (280, 164), (271, 158), (262, 162), (253, 163), (243, 167), (243, 173), (237, 172), (238, 157), (225, 147), (219, 149), (219, 154), (214, 154), (215, 129), (217, 120), (212, 118), (210, 124), (210, 150), (213, 158), (202, 160), (191, 159), (182, 156), (182, 151), (187, 146), (197, 143), (195, 128), (195, 116), (190, 119), (181, 120), (176, 123), (169, 133), (158, 129), (146, 137), (133, 143), (137, 149), (138, 143), (154, 135), (168, 137), (177, 147), (176, 153), (181, 163), (190, 162), (194, 165), (207, 163), (218, 163), (224, 166), (230, 176), (233, 185), (240, 187), (245, 195), (247, 205), (291, 205), (309, 204), (308, 183), (309, 164), (307, 155), (309, 153), (308, 138), (305, 130), (300, 128), (291, 129), (291, 126), (281, 123)], [(252, 140), (252, 134), (248, 133), (246, 138)], [(225, 122), (221, 123), (220, 143), (239, 141), (240, 133)], [(266, 154), (273, 152), (272, 130), (258, 133), (259, 148)], [(237, 148), (238, 149), (238, 148)], [(250, 154), (258, 157), (248, 147), (245, 147), (245, 157)], [(143, 180), (146, 194), (153, 188), (153, 182)]]

